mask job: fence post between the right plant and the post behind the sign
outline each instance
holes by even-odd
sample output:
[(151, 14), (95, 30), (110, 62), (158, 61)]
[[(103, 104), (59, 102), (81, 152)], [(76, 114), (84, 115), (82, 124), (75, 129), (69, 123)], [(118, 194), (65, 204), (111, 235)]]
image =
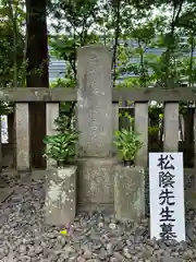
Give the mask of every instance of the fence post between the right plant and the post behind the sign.
[(136, 165), (148, 166), (148, 103), (135, 103), (135, 131), (138, 132), (143, 147), (136, 156)]

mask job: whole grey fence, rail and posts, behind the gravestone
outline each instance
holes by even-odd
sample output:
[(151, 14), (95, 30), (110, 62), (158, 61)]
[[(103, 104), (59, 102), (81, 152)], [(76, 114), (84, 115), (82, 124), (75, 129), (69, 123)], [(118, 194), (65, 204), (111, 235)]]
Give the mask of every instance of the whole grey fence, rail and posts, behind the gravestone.
[[(15, 168), (17, 170), (30, 169), (29, 148), (29, 112), (28, 103), (45, 102), (47, 134), (53, 132), (53, 120), (59, 114), (60, 102), (76, 102), (76, 88), (8, 88), (0, 90), (0, 100), (15, 102)], [(179, 151), (179, 102), (196, 100), (196, 88), (113, 88), (113, 117), (119, 119), (119, 102), (134, 102), (134, 127), (140, 133), (144, 146), (139, 151), (137, 162), (147, 166), (148, 162), (148, 103), (157, 100), (163, 103), (163, 151)], [(119, 120), (115, 121), (115, 129)], [(196, 127), (196, 115), (194, 115), (194, 127)], [(35, 134), (36, 135), (36, 134)], [(196, 141), (196, 130), (194, 131)], [(2, 148), (0, 148), (0, 153)], [(196, 155), (196, 145), (194, 146)], [(0, 159), (2, 154), (0, 154)], [(193, 159), (196, 163), (196, 157)], [(0, 160), (2, 163), (2, 160)]]

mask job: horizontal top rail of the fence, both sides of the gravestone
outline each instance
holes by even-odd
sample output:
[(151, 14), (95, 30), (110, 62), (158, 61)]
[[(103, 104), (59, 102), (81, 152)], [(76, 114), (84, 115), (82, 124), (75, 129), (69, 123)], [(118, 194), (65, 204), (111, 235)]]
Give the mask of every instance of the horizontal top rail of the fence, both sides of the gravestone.
[[(1, 102), (76, 102), (77, 88), (17, 87), (0, 88)], [(187, 88), (113, 88), (112, 102), (187, 102), (196, 100), (196, 87)]]

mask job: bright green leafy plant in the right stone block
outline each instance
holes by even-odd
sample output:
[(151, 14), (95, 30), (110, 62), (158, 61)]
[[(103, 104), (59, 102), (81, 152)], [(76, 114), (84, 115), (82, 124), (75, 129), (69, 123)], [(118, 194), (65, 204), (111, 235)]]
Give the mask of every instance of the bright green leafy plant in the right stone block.
[(118, 153), (123, 163), (134, 164), (136, 153), (142, 147), (143, 143), (138, 140), (138, 135), (134, 131), (122, 129), (115, 131), (115, 141), (113, 143), (118, 146)]

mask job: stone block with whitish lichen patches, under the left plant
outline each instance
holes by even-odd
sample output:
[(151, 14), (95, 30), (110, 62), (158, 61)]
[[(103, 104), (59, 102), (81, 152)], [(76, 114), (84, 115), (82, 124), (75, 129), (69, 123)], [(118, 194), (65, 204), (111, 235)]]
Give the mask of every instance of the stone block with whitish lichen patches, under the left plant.
[(46, 176), (45, 222), (64, 226), (76, 213), (76, 166), (48, 169)]

